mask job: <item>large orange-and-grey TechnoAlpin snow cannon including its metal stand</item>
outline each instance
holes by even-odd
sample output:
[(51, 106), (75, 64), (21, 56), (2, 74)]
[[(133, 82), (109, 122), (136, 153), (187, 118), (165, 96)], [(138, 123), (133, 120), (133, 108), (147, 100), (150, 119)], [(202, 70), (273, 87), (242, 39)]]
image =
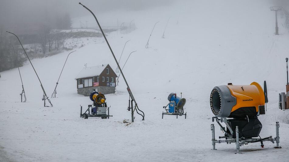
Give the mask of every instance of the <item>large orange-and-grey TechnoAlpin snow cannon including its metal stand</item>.
[[(266, 87), (266, 82), (264, 82)], [(211, 124), (212, 130), (212, 145), (215, 150), (215, 143), (236, 143), (237, 153), (245, 143), (261, 142), (263, 148), (263, 141), (277, 141), (279, 147), (279, 122), (276, 122), (276, 137), (261, 138), (259, 133), (262, 129), (262, 124), (258, 120), (260, 114), (265, 114), (265, 99), (267, 96), (267, 89), (265, 92), (259, 83), (253, 82), (250, 85), (228, 85), (216, 86), (211, 91), (210, 107), (215, 115), (212, 118), (213, 122), (216, 120), (221, 130), (225, 132), (225, 140), (215, 139), (215, 127)], [(220, 119), (219, 119), (220, 117)], [(233, 119), (227, 119), (233, 118)], [(225, 123), (225, 127), (221, 125)], [(259, 138), (253, 138), (259, 137)]]

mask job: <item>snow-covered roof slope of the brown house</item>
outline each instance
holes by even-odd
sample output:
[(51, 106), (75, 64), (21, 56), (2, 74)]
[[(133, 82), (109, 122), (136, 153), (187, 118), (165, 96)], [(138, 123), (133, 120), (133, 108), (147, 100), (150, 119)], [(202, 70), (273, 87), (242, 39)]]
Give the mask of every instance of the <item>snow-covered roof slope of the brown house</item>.
[(106, 68), (108, 64), (103, 64), (99, 66), (92, 66), (83, 68), (80, 73), (75, 77), (75, 79), (91, 77), (91, 76), (99, 76), (100, 73)]

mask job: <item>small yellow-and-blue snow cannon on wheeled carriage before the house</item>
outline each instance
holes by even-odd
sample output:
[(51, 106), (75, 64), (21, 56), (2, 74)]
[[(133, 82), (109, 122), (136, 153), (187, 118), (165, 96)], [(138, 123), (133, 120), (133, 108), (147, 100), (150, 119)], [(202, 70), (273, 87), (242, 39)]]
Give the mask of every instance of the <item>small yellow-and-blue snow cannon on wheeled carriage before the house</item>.
[[(82, 114), (82, 106), (80, 106), (80, 117), (87, 119), (88, 117), (101, 117), (101, 119), (110, 118), (110, 107), (106, 105), (104, 94), (98, 93), (95, 90), (90, 93), (89, 99), (93, 101), (93, 106), (88, 105), (85, 113)], [(91, 109), (89, 109), (91, 108)]]

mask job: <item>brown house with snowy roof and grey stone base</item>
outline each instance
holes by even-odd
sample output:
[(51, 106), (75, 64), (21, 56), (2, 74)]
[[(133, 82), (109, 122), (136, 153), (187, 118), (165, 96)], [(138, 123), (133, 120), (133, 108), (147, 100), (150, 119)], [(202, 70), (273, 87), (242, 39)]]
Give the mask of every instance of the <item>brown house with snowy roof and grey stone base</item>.
[(77, 93), (89, 96), (93, 89), (103, 94), (115, 93), (116, 78), (109, 64), (83, 68), (75, 78)]

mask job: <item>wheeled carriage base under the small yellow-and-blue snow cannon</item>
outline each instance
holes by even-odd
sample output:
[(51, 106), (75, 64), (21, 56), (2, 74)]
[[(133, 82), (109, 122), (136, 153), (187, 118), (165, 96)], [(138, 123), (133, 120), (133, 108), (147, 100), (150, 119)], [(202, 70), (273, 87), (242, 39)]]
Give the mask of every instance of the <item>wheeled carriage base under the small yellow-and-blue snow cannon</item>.
[(82, 113), (82, 106), (80, 105), (80, 117), (88, 119), (88, 117), (101, 117), (101, 119), (110, 118), (110, 107), (92, 107), (88, 105), (87, 110)]

